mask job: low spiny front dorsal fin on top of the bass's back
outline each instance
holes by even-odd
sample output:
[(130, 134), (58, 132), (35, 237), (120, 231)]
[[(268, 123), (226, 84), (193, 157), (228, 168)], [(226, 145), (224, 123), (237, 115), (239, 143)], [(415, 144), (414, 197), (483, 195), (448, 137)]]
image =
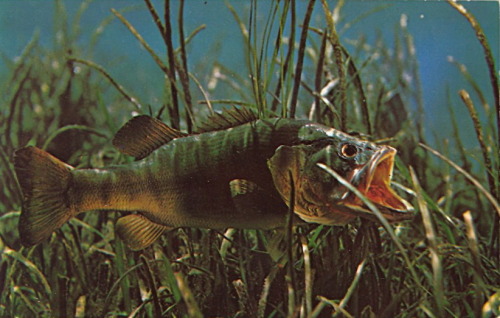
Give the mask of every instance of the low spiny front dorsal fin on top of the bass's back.
[(257, 114), (248, 107), (225, 109), (222, 113), (214, 113), (208, 116), (197, 129), (198, 133), (208, 131), (224, 130), (243, 125), (259, 119)]

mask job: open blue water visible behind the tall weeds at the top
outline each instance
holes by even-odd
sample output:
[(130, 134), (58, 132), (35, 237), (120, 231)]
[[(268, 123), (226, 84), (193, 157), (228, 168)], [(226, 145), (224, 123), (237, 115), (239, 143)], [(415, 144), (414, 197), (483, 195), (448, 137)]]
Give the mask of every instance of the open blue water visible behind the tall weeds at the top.
[[(312, 26), (323, 28), (324, 13), (321, 2), (317, 1), (312, 19)], [(69, 25), (75, 18), (80, 1), (64, 1), (68, 12)], [(162, 11), (163, 2), (153, 2)], [(258, 20), (263, 23), (271, 1), (259, 1)], [(336, 2), (330, 1), (333, 8)], [(491, 48), (495, 54), (498, 71), (499, 61), (499, 4), (497, 1), (461, 2), (482, 25)], [(231, 1), (237, 12), (248, 17), (250, 1)], [(408, 17), (408, 30), (414, 37), (420, 79), (423, 88), (425, 107), (425, 133), (429, 139), (450, 138), (451, 126), (447, 108), (447, 89), (451, 92), (452, 102), (456, 108), (461, 137), (466, 141), (469, 150), (477, 147), (473, 126), (467, 111), (461, 103), (457, 92), (460, 89), (472, 89), (467, 84), (456, 66), (448, 61), (452, 56), (467, 66), (468, 71), (483, 89), (491, 107), (494, 107), (488, 69), (483, 50), (470, 24), (455, 9), (444, 1), (346, 1), (342, 9), (343, 21), (353, 21), (356, 17), (375, 7), (390, 5), (384, 10), (364, 18), (352, 25), (342, 34), (341, 42), (358, 39), (364, 35), (367, 43), (374, 44), (377, 34), (381, 34), (389, 47), (394, 45), (394, 32), (400, 23), (402, 14)], [(41, 45), (50, 48), (57, 41), (58, 34), (54, 27), (53, 1), (0, 1), (0, 52), (7, 59), (14, 60), (33, 37), (36, 30), (40, 32)], [(99, 0), (89, 4), (80, 22), (78, 44), (85, 52), (92, 33), (103, 19), (111, 15), (110, 9), (122, 10), (135, 7), (124, 13), (124, 16), (137, 28), (145, 40), (157, 51), (165, 52), (163, 40), (152, 23), (144, 2), (130, 0)], [(306, 1), (297, 1), (298, 20), (300, 21), (307, 6)], [(176, 14), (178, 2), (172, 1), (174, 20), (174, 38), (177, 38)], [(162, 13), (161, 13), (162, 14)], [(244, 20), (245, 22), (247, 20)], [(206, 70), (215, 61), (219, 61), (229, 69), (236, 70), (242, 77), (247, 77), (244, 46), (240, 30), (227, 9), (224, 1), (219, 0), (187, 0), (185, 3), (185, 34), (192, 32), (200, 24), (206, 28), (189, 44), (188, 54), (190, 71), (195, 75), (197, 70)], [(300, 29), (297, 29), (300, 32)], [(59, 34), (60, 35), (60, 34)], [(298, 41), (299, 35), (296, 40)], [(354, 48), (345, 44), (348, 50)], [(141, 47), (120, 21), (114, 19), (104, 29), (98, 45), (89, 58), (103, 65), (120, 83), (138, 96), (145, 104), (158, 106), (161, 103), (164, 89), (163, 75), (150, 55)], [(162, 53), (164, 54), (164, 53)], [(62, 62), (62, 61), (61, 61)], [(0, 61), (0, 78), (7, 78), (8, 69), (4, 61)], [(202, 85), (207, 85), (202, 81)], [(220, 93), (219, 93), (220, 95)], [(226, 96), (216, 98), (233, 98), (231, 91)], [(480, 105), (475, 99), (476, 105)], [(155, 107), (156, 107), (155, 106)], [(128, 109), (132, 109), (127, 106)], [(481, 112), (481, 109), (479, 109)], [(494, 114), (494, 112), (492, 112)], [(484, 114), (482, 115), (484, 118)]]

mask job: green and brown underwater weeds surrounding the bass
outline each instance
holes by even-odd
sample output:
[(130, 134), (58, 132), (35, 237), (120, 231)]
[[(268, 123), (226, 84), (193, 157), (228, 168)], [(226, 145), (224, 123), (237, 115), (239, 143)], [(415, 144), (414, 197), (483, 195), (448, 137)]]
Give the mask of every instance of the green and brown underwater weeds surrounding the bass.
[[(0, 99), (1, 317), (500, 315), (499, 86), (480, 21), (450, 2), (484, 48), (493, 89), (479, 88), (461, 68), (471, 86), (460, 91), (463, 105), (450, 98), (454, 134), (437, 142), (438, 152), (426, 140), (418, 64), (404, 16), (389, 48), (382, 39), (345, 42), (341, 26), (356, 21), (342, 20), (343, 1), (331, 7), (309, 0), (305, 12), (295, 1), (274, 1), (260, 24), (258, 2), (250, 3), (246, 18), (227, 4), (240, 27), (245, 71), (220, 61), (190, 64), (189, 45), (203, 37), (203, 26), (184, 29), (184, 1), (173, 12), (169, 0), (161, 10), (145, 0), (163, 52), (148, 44), (126, 11), (116, 10), (81, 49), (79, 17), (89, 2), (82, 2), (69, 25), (63, 2), (56, 1), (62, 36), (55, 47), (43, 48), (35, 34), (17, 60), (6, 61), (10, 74)], [(314, 6), (324, 25), (311, 23)], [(92, 61), (93, 46), (115, 18), (164, 73), (160, 105), (142, 104), (120, 78)], [(478, 58), (481, 46), (474, 48)], [(239, 97), (214, 100), (215, 90)], [(494, 107), (488, 104), (492, 93)], [(283, 240), (277, 231), (182, 228), (133, 252), (115, 237), (117, 214), (85, 213), (39, 246), (20, 245), (15, 149), (37, 145), (79, 168), (119, 164), (130, 158), (110, 140), (132, 111), (191, 132), (224, 104), (252, 107), (261, 117), (308, 117), (393, 145), (399, 151), (396, 187), (415, 206), (414, 219), (389, 225), (373, 207), (382, 225), (358, 220), (342, 227), (289, 227)], [(480, 155), (473, 158), (455, 124), (458, 107), (467, 107), (477, 135)], [(453, 159), (448, 143), (458, 149)]]

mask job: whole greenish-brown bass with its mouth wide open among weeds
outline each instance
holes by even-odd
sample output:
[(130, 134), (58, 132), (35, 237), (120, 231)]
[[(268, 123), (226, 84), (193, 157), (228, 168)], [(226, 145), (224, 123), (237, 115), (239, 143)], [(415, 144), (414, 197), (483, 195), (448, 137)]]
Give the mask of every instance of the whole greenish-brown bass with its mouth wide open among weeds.
[(411, 205), (391, 188), (394, 148), (308, 120), (259, 118), (234, 107), (187, 134), (140, 115), (112, 143), (136, 160), (81, 169), (35, 146), (15, 151), (24, 246), (88, 211), (123, 212), (115, 231), (132, 250), (172, 228), (282, 228), (290, 207), (297, 223), (375, 219), (318, 164), (351, 182), (389, 221), (412, 218)]

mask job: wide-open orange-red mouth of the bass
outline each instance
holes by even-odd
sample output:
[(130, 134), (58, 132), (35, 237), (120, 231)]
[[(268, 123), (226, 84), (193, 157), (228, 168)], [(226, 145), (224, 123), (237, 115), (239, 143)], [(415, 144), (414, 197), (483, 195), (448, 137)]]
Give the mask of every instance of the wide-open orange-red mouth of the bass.
[[(350, 180), (351, 184), (375, 203), (384, 217), (391, 222), (410, 219), (412, 213), (408, 212), (413, 210), (413, 207), (391, 188), (395, 156), (396, 149), (382, 147), (368, 164), (353, 172)], [(373, 212), (353, 193), (347, 194), (343, 205), (363, 212), (363, 216), (368, 216), (366, 213), (374, 216)]]

